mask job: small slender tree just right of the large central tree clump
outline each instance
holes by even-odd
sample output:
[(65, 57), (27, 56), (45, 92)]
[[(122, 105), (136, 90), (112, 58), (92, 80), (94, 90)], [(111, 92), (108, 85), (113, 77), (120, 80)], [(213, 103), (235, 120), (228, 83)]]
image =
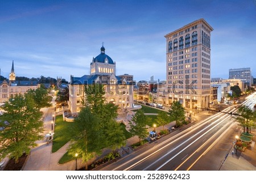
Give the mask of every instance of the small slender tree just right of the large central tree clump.
[(144, 112), (140, 109), (135, 113), (131, 121), (129, 121), (129, 124), (131, 135), (138, 136), (139, 143), (141, 143), (141, 139), (144, 139), (148, 135), (146, 128), (147, 116), (145, 116)]

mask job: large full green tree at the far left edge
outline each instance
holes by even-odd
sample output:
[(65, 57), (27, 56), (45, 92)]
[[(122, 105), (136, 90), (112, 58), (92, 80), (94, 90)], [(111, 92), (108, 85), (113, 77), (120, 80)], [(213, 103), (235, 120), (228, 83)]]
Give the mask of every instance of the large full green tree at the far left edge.
[[(3, 105), (5, 113), (0, 117), (0, 159), (10, 155), (18, 163), (23, 153), (30, 153), (35, 141), (42, 138), (42, 113), (31, 95), (15, 95)], [(3, 122), (7, 121), (7, 122)]]

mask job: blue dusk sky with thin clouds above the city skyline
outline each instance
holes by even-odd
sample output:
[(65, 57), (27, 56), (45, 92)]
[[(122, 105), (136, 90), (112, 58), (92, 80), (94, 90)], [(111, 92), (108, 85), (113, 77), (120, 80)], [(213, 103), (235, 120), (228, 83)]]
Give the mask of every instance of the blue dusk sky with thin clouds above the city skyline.
[(211, 77), (251, 67), (256, 77), (256, 2), (241, 1), (7, 1), (0, 0), (0, 69), (16, 76), (80, 77), (106, 54), (118, 74), (136, 81), (166, 79), (164, 35), (204, 18), (211, 34)]

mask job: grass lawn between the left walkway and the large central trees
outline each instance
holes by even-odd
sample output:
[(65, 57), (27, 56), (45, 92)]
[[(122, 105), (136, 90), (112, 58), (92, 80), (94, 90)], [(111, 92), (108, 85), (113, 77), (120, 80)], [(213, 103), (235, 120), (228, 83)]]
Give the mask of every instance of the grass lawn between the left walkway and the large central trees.
[(55, 153), (71, 140), (71, 136), (68, 133), (70, 133), (69, 131), (72, 129), (74, 123), (63, 121), (63, 116), (60, 115), (56, 116), (55, 124), (52, 153)]

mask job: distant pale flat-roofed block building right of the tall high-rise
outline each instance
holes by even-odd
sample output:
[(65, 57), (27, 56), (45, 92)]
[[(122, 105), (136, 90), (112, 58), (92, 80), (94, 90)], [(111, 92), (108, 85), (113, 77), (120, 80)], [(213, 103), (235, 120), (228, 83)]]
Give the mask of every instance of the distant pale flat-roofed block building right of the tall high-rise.
[(229, 79), (241, 79), (243, 83), (251, 87), (251, 69), (250, 67), (229, 69)]

